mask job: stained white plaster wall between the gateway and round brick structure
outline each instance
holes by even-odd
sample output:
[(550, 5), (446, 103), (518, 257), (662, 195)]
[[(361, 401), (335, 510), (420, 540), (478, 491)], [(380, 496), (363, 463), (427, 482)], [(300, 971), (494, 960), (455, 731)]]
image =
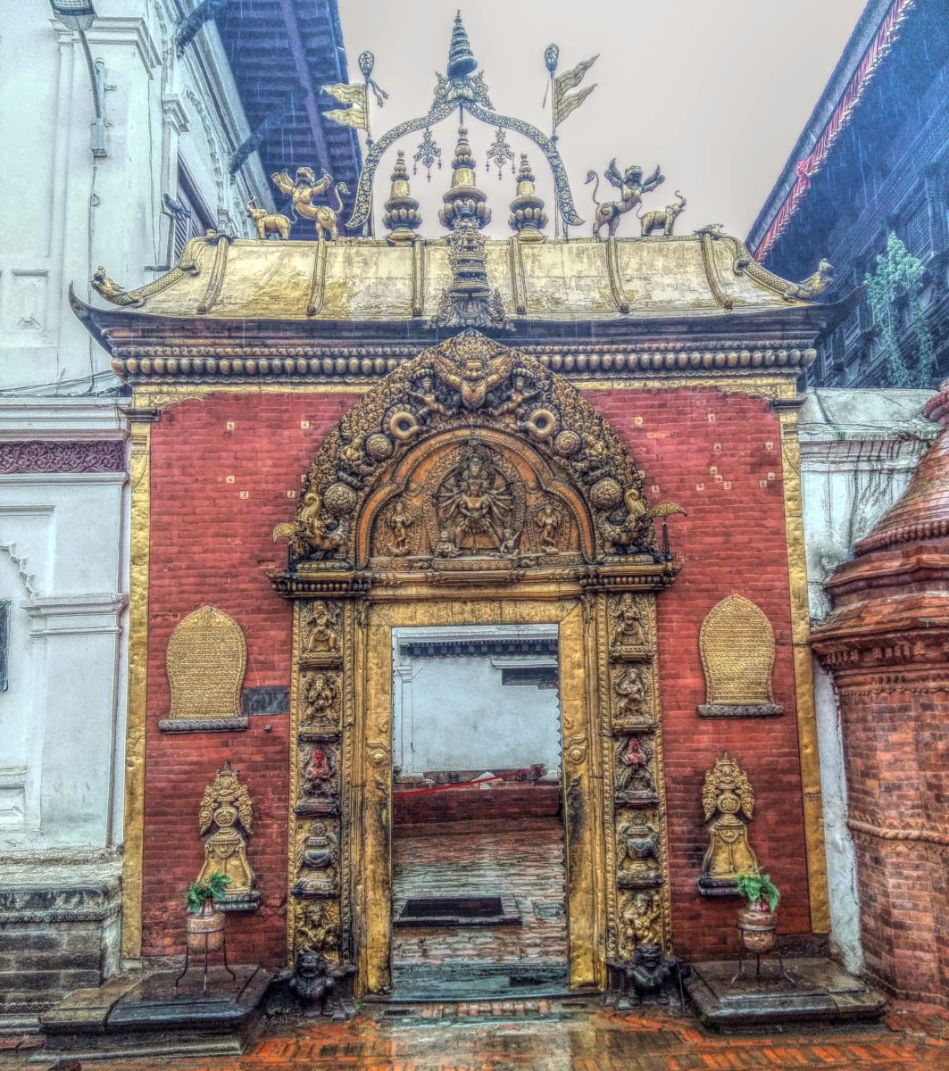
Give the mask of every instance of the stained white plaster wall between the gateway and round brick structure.
[[(938, 427), (922, 416), (930, 391), (808, 392), (799, 418), (808, 592), (812, 621), (830, 610), (824, 582), (906, 489)], [(863, 964), (854, 845), (837, 696), (816, 659), (814, 692), (831, 937), (848, 969)]]

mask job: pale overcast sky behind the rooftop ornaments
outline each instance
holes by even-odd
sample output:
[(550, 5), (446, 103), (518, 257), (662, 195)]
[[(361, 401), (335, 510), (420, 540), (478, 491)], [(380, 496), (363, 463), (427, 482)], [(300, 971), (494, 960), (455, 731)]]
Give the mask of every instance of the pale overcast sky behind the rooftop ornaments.
[[(356, 58), (376, 56), (374, 77), (389, 93), (382, 109), (372, 105), (373, 134), (424, 115), (432, 103), (435, 71), (443, 72), (456, 3), (446, 0), (340, 0), (350, 79)], [(662, 208), (681, 190), (689, 200), (678, 229), (689, 233), (722, 223), (744, 238), (820, 95), (864, 0), (478, 0), (462, 7), (472, 51), (484, 70), (498, 111), (549, 134), (545, 47), (560, 46), (558, 73), (600, 54), (583, 85), (597, 84), (581, 108), (561, 125), (559, 148), (574, 201), (590, 232), (590, 168), (662, 166), (665, 184), (645, 208)], [(436, 216), (450, 181), (457, 114), (433, 130), (443, 167), (426, 183), (413, 176), (422, 201), (422, 232), (442, 232)], [(510, 166), (498, 181), (485, 174), (494, 130), (469, 123), (479, 182), (488, 194), (491, 233), (509, 236), (508, 205), (514, 194)], [(552, 184), (540, 150), (510, 135), (515, 159), (527, 151), (538, 188), (552, 209)], [(419, 135), (404, 138), (411, 163)], [(380, 164), (376, 215), (389, 193), (395, 149)], [(613, 199), (600, 181), (600, 200)], [(381, 229), (381, 228), (380, 228)], [(553, 232), (552, 223), (548, 231)], [(576, 233), (577, 231), (572, 231)], [(638, 233), (635, 220), (618, 235)]]

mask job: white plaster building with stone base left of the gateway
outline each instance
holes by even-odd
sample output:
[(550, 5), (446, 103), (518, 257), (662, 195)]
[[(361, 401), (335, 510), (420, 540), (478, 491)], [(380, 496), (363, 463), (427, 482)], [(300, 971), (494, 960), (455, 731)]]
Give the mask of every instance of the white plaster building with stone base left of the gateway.
[(250, 235), (250, 196), (272, 205), (256, 154), (229, 174), (250, 131), (214, 24), (175, 47), (194, 6), (96, 0), (102, 155), (79, 34), (43, 2), (0, 37), (0, 1030), (118, 955), (127, 431), (69, 288), (89, 300), (101, 263), (137, 285), (192, 233)]

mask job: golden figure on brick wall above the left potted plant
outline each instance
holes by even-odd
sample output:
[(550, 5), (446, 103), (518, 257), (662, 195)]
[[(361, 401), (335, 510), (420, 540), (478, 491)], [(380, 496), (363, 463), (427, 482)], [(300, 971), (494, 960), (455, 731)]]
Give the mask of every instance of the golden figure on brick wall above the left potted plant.
[(205, 789), (198, 811), (198, 831), (205, 841), (205, 865), (198, 881), (207, 881), (212, 874), (230, 878), (227, 896), (238, 896), (252, 891), (254, 872), (247, 862), (246, 835), (254, 831), (254, 810), (247, 789), (238, 781), (226, 761), (214, 780)]

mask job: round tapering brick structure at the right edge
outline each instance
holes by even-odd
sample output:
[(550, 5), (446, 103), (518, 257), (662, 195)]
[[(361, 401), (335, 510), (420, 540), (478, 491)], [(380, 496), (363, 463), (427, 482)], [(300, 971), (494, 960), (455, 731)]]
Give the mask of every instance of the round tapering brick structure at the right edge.
[(949, 1006), (949, 384), (903, 497), (827, 583), (813, 634), (840, 697), (869, 974)]

